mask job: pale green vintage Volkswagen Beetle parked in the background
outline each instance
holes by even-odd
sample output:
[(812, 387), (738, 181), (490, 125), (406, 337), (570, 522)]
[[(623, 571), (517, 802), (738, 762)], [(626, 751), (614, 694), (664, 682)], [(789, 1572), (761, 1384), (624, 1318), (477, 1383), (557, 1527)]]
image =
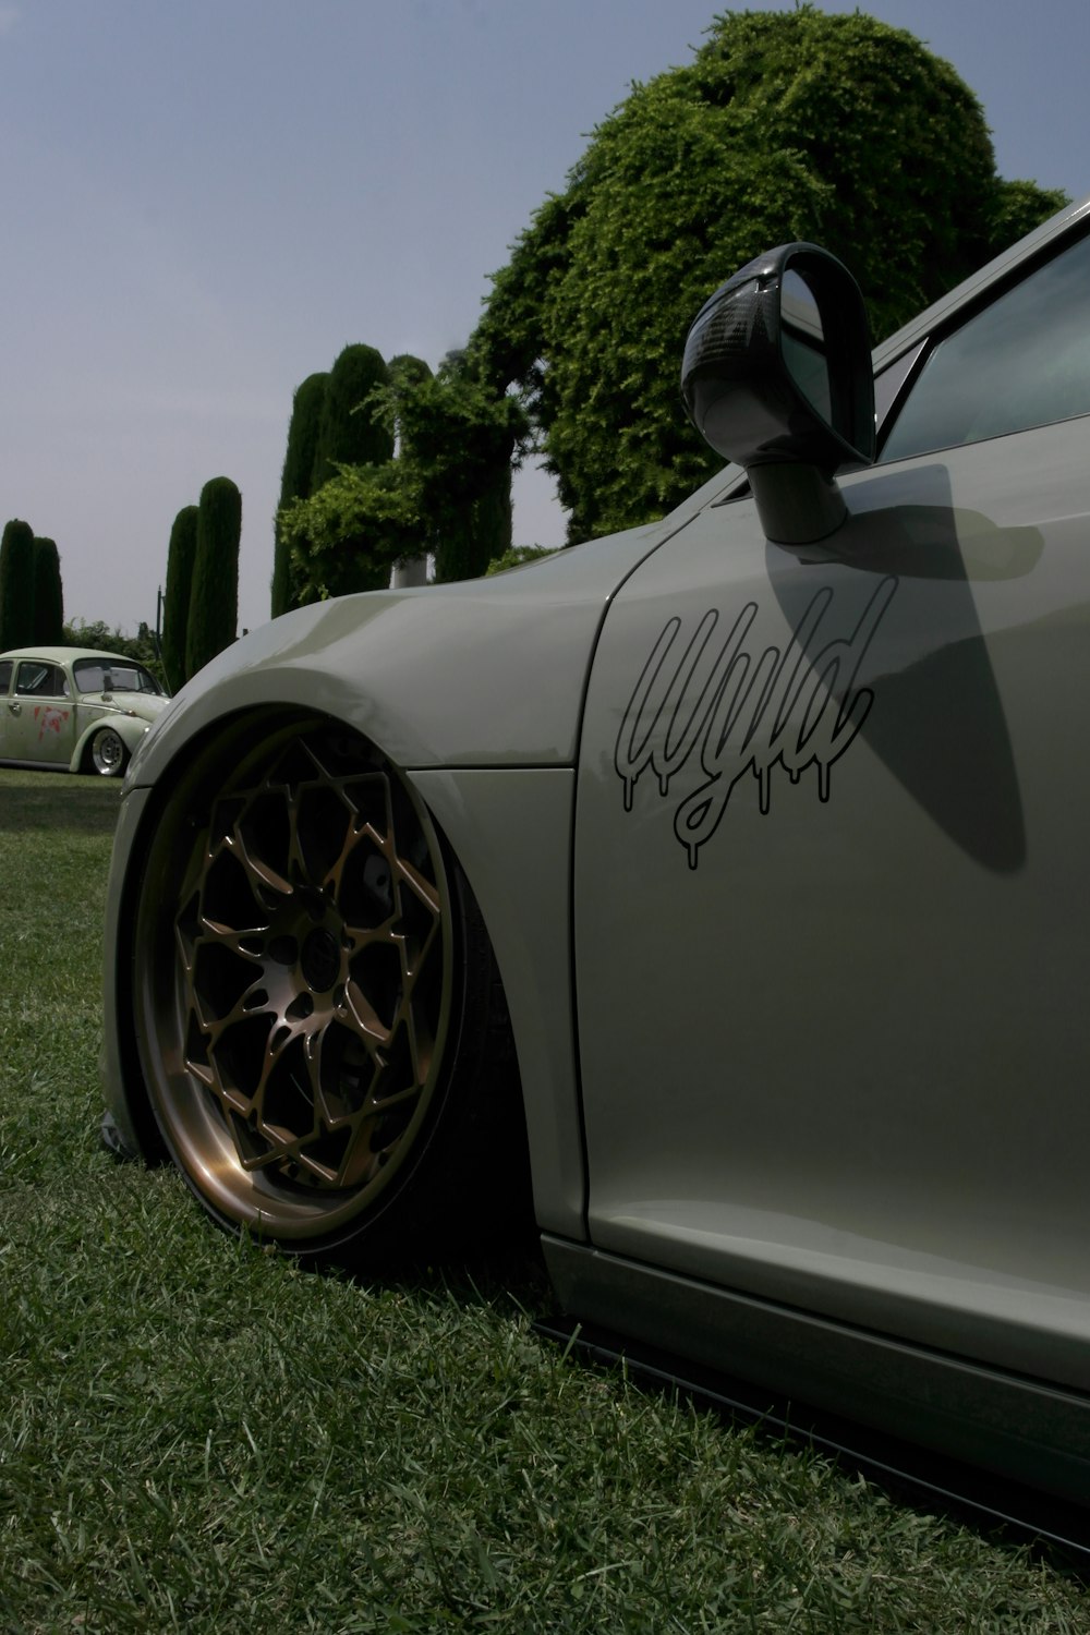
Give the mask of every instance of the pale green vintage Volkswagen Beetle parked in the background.
[(119, 652), (0, 652), (0, 760), (114, 778), (165, 705), (152, 672)]

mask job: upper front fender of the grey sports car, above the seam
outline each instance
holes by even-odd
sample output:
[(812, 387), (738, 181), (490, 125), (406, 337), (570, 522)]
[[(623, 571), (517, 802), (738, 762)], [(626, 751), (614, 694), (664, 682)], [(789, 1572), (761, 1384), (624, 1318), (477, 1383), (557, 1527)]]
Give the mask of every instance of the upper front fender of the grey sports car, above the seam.
[(492, 579), (379, 590), (286, 613), (221, 652), (129, 768), (155, 783), (185, 746), (248, 710), (317, 710), (402, 770), (572, 765), (608, 600), (673, 531), (636, 528)]

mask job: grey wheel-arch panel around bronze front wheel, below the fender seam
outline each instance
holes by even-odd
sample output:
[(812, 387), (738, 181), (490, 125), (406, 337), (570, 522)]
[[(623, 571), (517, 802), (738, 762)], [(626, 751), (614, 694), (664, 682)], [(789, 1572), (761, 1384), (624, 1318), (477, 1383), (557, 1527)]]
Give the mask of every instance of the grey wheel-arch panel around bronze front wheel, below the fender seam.
[[(145, 1162), (168, 1159), (131, 1025), (136, 911), (157, 824), (196, 762), (221, 757), (227, 767), (234, 746), (257, 732), (314, 718), (360, 731), (358, 719), (302, 703), (240, 706), (175, 741), (155, 783), (126, 791), (108, 899), (103, 1079), (123, 1143)], [(477, 899), (515, 1035), (536, 1215), (549, 1230), (580, 1238), (585, 1185), (569, 925), (574, 770), (413, 768), (364, 736), (413, 786)]]

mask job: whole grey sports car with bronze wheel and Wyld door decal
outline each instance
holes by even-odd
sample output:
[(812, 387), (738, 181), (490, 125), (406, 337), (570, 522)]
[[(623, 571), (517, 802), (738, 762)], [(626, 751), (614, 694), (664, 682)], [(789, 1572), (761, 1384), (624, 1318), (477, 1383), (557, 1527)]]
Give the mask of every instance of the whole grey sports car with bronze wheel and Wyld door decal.
[(726, 468), (304, 608), (129, 767), (114, 1143), (379, 1265), (507, 1207), (564, 1308), (1090, 1494), (1090, 201), (871, 358), (814, 245), (698, 314)]

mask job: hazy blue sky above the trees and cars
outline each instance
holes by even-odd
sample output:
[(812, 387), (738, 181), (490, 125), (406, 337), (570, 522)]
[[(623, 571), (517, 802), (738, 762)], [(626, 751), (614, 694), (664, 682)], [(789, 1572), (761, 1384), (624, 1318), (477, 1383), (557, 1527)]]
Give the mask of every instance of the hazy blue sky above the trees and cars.
[[(592, 128), (716, 10), (0, 0), (0, 522), (56, 538), (67, 616), (154, 621), (173, 517), (222, 473), (240, 625), (268, 618), (294, 387), (348, 342), (461, 345)], [(1090, 191), (1087, 0), (861, 10), (953, 62), (1002, 175)], [(562, 528), (520, 479), (516, 538)]]

